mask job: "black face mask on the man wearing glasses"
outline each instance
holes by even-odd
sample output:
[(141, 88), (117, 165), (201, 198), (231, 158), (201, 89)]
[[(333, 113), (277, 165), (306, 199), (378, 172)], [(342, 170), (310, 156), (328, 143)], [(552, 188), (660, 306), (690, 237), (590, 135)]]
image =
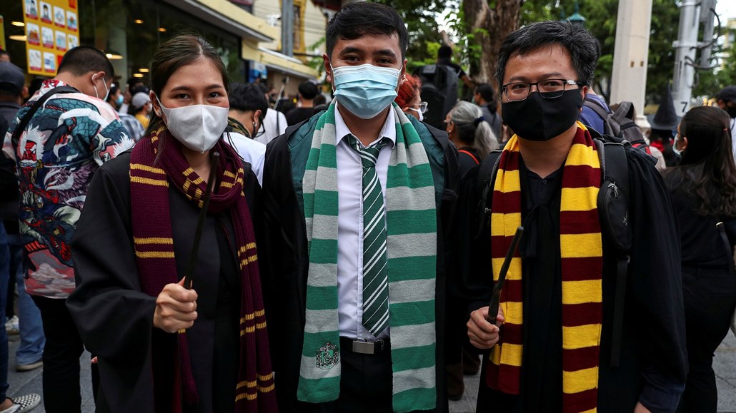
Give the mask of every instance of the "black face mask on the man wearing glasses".
[(531, 93), (523, 101), (503, 102), (501, 117), (514, 133), (526, 140), (551, 140), (573, 126), (580, 115), (580, 89), (565, 90), (559, 98)]

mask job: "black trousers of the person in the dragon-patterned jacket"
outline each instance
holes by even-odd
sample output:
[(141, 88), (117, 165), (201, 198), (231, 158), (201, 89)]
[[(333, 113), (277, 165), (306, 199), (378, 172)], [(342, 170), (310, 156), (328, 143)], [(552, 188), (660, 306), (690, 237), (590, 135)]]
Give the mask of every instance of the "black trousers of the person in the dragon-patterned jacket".
[(41, 312), (43, 334), (46, 334), (43, 348), (43, 405), (46, 412), (81, 412), (79, 357), (84, 345), (66, 309), (66, 300), (39, 295), (32, 295), (32, 298)]

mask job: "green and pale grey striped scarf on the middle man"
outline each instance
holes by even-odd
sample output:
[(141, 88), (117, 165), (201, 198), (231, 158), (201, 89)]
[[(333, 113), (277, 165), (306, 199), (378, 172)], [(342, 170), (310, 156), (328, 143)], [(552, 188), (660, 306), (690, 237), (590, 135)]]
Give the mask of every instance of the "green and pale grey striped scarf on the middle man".
[[(436, 406), (436, 206), (419, 134), (392, 105), (396, 145), (386, 182), (386, 229), (393, 407), (408, 412)], [(330, 104), (316, 123), (302, 186), (309, 273), (297, 398), (308, 403), (335, 401), (340, 393), (335, 110)]]

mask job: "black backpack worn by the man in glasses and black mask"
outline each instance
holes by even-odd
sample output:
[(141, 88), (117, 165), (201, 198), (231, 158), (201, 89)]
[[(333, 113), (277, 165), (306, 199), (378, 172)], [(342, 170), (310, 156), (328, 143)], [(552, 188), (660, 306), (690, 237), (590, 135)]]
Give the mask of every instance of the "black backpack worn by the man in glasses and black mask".
[[(598, 217), (601, 221), (601, 235), (617, 251), (616, 290), (614, 302), (613, 334), (611, 345), (611, 366), (618, 367), (620, 356), (621, 331), (623, 329), (623, 306), (626, 295), (626, 274), (629, 271), (631, 251), (631, 227), (629, 226), (629, 164), (626, 161), (626, 140), (601, 136), (595, 129), (588, 129), (598, 149), (601, 161), (601, 190), (598, 192)], [(478, 170), (476, 190), (481, 194), (478, 202), (478, 231), (475, 237), (489, 228), (493, 185), (498, 172), (500, 154), (492, 151), (481, 163)]]

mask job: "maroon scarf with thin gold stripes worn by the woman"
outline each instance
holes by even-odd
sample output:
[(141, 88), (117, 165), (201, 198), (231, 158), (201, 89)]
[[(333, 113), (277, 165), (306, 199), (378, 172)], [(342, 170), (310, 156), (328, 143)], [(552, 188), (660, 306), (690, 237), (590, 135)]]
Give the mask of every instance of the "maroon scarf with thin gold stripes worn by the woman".
[[(162, 156), (156, 159), (158, 146)], [(243, 193), (244, 170), (236, 152), (220, 140), (213, 151), (219, 151), (221, 162), (216, 171), (219, 185), (210, 198), (208, 212), (230, 211), (238, 247), (241, 284), (240, 362), (236, 385), (236, 412), (275, 412), (277, 404), (274, 375), (266, 335), (258, 255), (250, 210)], [(153, 297), (166, 284), (182, 277), (174, 260), (174, 240), (169, 212), (169, 185), (180, 190), (192, 203), (202, 207), (206, 183), (189, 168), (186, 159), (169, 130), (162, 127), (144, 137), (133, 148), (130, 157), (130, 199), (133, 241), (138, 262), (141, 288)], [(194, 235), (194, 234), (193, 234)], [(184, 240), (189, 242), (189, 240)], [(215, 269), (217, 270), (217, 269)], [(196, 323), (196, 321), (195, 321)], [(197, 388), (191, 371), (186, 334), (177, 334), (177, 371), (174, 392), (180, 387), (187, 403), (197, 402)], [(158, 374), (160, 372), (154, 372)], [(177, 384), (180, 383), (180, 386)], [(174, 405), (180, 398), (174, 395)], [(172, 407), (178, 412), (181, 406)]]

